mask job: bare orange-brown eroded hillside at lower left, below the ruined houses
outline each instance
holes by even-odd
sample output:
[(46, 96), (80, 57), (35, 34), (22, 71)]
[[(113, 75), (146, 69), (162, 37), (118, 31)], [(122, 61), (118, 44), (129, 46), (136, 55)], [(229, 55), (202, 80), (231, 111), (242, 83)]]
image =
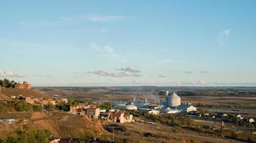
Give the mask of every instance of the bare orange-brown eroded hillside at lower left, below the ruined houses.
[[(101, 123), (93, 122), (85, 117), (68, 113), (44, 113), (44, 112), (22, 112), (30, 117), (27, 127), (29, 129), (49, 129), (55, 137), (76, 137), (82, 138), (87, 132), (98, 135), (106, 135), (107, 132), (101, 127)], [(13, 115), (9, 113), (9, 116)], [(18, 121), (19, 119), (17, 119)], [(8, 132), (22, 127), (18, 124), (0, 124), (0, 138), (5, 138)]]

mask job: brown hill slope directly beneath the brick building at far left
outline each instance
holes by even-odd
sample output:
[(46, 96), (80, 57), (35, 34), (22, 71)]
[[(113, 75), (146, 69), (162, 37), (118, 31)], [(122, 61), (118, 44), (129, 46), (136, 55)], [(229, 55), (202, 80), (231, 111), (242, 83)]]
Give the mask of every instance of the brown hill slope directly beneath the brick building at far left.
[(11, 96), (18, 96), (19, 94), (22, 94), (24, 97), (34, 97), (34, 98), (40, 98), (40, 97), (47, 97), (46, 94), (43, 92), (40, 92), (38, 89), (8, 89), (8, 88), (2, 88), (1, 89), (1, 95), (0, 99), (9, 99)]

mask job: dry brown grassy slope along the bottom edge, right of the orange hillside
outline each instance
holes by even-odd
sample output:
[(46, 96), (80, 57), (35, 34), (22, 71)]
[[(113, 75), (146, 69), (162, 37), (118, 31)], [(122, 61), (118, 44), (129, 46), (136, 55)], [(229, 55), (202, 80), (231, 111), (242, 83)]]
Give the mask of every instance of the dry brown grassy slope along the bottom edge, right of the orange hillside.
[[(196, 142), (215, 142), (216, 138), (211, 134), (201, 134), (197, 132), (191, 132), (185, 129), (178, 129), (175, 127), (168, 127), (162, 124), (145, 124), (145, 123), (125, 123), (122, 124), (127, 129), (126, 132), (116, 132), (114, 136), (117, 142), (122, 142), (122, 139), (129, 139), (136, 142), (137, 140), (143, 142), (170, 142), (170, 143), (196, 143)], [(143, 134), (150, 133), (152, 137), (145, 137)], [(239, 142), (233, 139), (217, 138), (219, 143), (234, 143)]]

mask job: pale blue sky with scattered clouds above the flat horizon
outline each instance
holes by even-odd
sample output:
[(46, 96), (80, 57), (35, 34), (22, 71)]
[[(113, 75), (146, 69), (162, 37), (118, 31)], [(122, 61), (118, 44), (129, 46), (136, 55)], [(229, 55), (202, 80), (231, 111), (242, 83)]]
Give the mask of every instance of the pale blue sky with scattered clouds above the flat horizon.
[(0, 79), (256, 86), (256, 1), (0, 1)]

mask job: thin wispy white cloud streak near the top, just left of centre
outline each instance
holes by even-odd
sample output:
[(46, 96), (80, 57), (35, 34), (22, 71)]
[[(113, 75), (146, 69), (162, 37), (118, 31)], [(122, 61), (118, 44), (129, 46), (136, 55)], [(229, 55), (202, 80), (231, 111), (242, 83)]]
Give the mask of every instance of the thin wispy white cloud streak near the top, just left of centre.
[(101, 15), (101, 14), (93, 14), (88, 16), (89, 21), (94, 22), (111, 22), (111, 21), (119, 21), (122, 20), (122, 16), (114, 16), (114, 15)]

